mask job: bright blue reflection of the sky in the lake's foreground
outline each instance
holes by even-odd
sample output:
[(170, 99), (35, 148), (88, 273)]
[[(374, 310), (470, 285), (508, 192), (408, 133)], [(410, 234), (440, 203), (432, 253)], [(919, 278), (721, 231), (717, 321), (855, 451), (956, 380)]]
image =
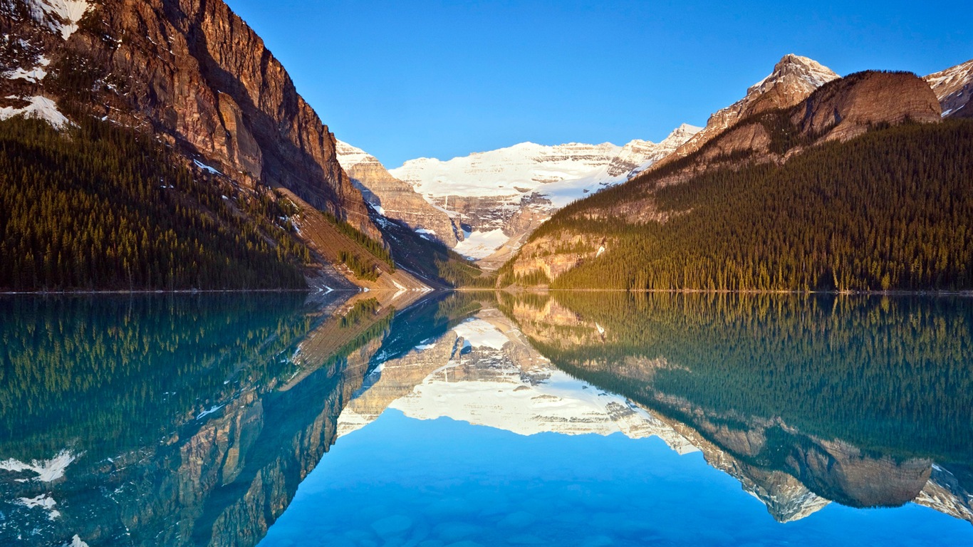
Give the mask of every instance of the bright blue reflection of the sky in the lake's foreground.
[(948, 545), (915, 504), (780, 524), (700, 453), (657, 438), (528, 437), (397, 411), (339, 439), (261, 545)]

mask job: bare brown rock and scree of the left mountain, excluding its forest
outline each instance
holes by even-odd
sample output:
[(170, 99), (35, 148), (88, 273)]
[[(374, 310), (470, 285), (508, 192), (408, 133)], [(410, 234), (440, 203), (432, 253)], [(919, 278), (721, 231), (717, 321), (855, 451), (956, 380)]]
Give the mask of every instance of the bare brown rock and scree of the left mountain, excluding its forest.
[[(426, 286), (392, 264), (379, 265), (391, 256), (388, 243), (342, 169), (334, 135), (222, 0), (3, 0), (0, 31), (7, 45), (0, 52), (0, 119), (38, 117), (66, 134), (94, 117), (151, 135), (167, 150), (166, 162), (218, 180), (223, 194), (244, 205), (232, 208), (245, 226), (262, 222), (251, 214), (255, 203), (296, 207), (295, 216), (278, 215), (270, 224), (286, 225), (272, 230), (291, 231), (304, 247), (296, 252), (305, 258), (288, 268), (299, 267), (322, 289)], [(212, 213), (192, 200), (182, 205)], [(314, 221), (318, 211), (327, 222)], [(148, 226), (156, 220), (150, 215)], [(302, 221), (313, 234), (299, 228)], [(279, 257), (277, 237), (264, 236), (261, 244)], [(136, 255), (147, 256), (141, 239), (136, 246)], [(43, 247), (31, 250), (38, 265), (56, 260)], [(224, 288), (197, 282), (169, 288)], [(270, 276), (260, 286), (289, 283)], [(109, 288), (92, 279), (83, 285)]]

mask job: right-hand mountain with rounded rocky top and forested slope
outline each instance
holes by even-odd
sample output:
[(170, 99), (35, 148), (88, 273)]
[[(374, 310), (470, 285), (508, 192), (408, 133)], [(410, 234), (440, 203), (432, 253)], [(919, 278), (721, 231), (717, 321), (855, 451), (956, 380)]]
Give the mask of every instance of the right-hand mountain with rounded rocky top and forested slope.
[[(834, 80), (561, 209), (504, 266), (501, 281), (636, 290), (968, 288), (973, 249), (948, 234), (965, 233), (973, 208), (962, 183), (971, 128), (940, 121), (937, 97), (911, 73)], [(948, 208), (942, 196), (951, 196)]]

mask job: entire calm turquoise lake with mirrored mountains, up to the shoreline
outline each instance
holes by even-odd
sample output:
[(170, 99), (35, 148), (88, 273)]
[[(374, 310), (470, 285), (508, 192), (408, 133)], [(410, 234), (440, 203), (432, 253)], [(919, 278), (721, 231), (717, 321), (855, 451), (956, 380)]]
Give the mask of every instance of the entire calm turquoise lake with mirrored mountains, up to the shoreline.
[(0, 298), (0, 545), (970, 545), (973, 301)]

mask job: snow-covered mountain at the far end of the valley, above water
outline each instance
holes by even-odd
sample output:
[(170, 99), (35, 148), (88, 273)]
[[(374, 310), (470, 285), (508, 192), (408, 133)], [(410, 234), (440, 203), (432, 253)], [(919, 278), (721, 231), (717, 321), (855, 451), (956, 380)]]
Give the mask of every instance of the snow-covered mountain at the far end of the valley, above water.
[(683, 125), (658, 144), (633, 140), (622, 147), (521, 143), (447, 162), (411, 160), (391, 171), (351, 146), (340, 147), (339, 157), (386, 217), (495, 268), (559, 207), (628, 180), (697, 130)]

